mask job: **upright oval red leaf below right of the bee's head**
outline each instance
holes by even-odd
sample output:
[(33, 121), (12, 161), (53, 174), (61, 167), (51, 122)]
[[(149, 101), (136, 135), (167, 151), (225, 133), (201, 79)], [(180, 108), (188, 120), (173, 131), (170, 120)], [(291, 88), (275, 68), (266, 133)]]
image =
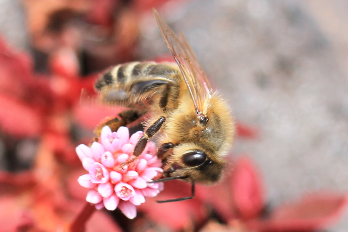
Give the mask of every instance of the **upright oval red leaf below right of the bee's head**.
[(258, 217), (264, 206), (260, 174), (247, 157), (236, 161), (232, 174), (232, 196), (243, 219)]

